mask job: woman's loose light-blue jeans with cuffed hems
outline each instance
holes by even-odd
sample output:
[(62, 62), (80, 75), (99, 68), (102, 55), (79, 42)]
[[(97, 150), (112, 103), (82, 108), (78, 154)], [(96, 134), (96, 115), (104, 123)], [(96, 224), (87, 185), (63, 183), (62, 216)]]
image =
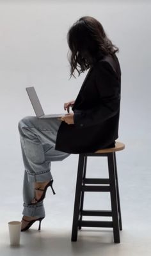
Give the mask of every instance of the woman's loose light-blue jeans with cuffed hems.
[(55, 143), (61, 121), (57, 118), (26, 116), (19, 122), (20, 143), (24, 162), (23, 215), (45, 217), (44, 203), (29, 205), (35, 196), (35, 182), (52, 179), (51, 161), (62, 161), (70, 154), (56, 151)]

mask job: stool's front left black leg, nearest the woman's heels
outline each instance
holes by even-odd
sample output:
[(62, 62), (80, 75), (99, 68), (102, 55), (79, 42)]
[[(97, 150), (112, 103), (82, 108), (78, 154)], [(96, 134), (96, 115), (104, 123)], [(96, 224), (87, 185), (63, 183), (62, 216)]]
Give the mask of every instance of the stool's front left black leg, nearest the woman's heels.
[(71, 241), (77, 241), (77, 228), (78, 228), (78, 221), (79, 221), (79, 205), (81, 200), (81, 185), (83, 181), (83, 170), (84, 170), (84, 154), (79, 154)]

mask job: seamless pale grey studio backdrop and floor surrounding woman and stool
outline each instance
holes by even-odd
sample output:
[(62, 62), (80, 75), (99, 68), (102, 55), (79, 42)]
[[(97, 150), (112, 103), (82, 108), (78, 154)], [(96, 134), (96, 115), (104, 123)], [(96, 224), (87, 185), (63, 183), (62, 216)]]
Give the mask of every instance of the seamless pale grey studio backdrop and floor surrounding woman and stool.
[[(150, 4), (143, 1), (0, 1), (0, 138), (1, 211), (0, 254), (3, 256), (40, 255), (151, 255), (151, 174), (150, 174)], [(20, 1), (21, 2), (21, 1)], [(43, 3), (44, 2), (44, 3)], [(83, 3), (82, 3), (83, 2)], [(123, 230), (120, 244), (113, 242), (113, 231), (82, 228), (77, 242), (71, 242), (72, 216), (77, 174), (77, 155), (52, 163), (53, 196), (47, 191), (46, 217), (42, 230), (38, 223), (22, 232), (20, 246), (9, 242), (8, 221), (22, 218), (22, 179), (24, 167), (17, 123), (33, 114), (25, 87), (36, 85), (47, 113), (58, 112), (66, 100), (77, 95), (83, 75), (68, 80), (66, 34), (70, 24), (82, 15), (93, 15), (120, 46), (122, 66), (122, 105), (119, 140), (125, 150), (118, 152), (118, 181)], [(127, 19), (128, 17), (128, 19)], [(52, 22), (53, 21), (53, 22)], [(62, 23), (60, 23), (62, 21)], [(54, 24), (56, 30), (54, 30)], [(141, 34), (140, 34), (141, 33)], [(144, 46), (145, 44), (145, 46)], [(141, 50), (140, 50), (141, 49)], [(138, 54), (139, 53), (139, 54)], [(61, 61), (58, 62), (58, 60)], [(56, 70), (60, 71), (56, 75)], [(62, 93), (58, 93), (61, 86)], [(45, 91), (44, 91), (45, 89)], [(57, 102), (57, 103), (56, 103)], [(102, 158), (88, 160), (88, 176), (107, 176)], [(87, 193), (84, 208), (109, 209), (109, 196)]]

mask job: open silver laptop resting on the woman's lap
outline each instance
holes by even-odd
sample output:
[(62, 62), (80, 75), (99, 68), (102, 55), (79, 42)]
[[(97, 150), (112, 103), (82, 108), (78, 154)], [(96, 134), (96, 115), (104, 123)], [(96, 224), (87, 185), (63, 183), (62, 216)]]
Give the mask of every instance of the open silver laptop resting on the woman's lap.
[(35, 88), (33, 86), (26, 87), (26, 91), (28, 93), (31, 104), (33, 105), (33, 109), (37, 118), (61, 118), (61, 116), (65, 116), (65, 114), (44, 114), (42, 109), (42, 105), (40, 104), (40, 100), (36, 94)]

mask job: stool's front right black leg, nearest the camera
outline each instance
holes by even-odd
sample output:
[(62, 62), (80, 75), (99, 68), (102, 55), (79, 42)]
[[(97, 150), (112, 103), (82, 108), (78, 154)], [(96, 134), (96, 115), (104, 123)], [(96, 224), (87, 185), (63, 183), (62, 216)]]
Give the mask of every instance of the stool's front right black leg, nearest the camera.
[(116, 192), (116, 179), (115, 179), (115, 165), (113, 159), (113, 153), (107, 155), (108, 168), (109, 168), (109, 183), (111, 189), (111, 208), (112, 208), (112, 218), (113, 218), (113, 234), (114, 241), (120, 242), (120, 229), (118, 221), (118, 201)]

